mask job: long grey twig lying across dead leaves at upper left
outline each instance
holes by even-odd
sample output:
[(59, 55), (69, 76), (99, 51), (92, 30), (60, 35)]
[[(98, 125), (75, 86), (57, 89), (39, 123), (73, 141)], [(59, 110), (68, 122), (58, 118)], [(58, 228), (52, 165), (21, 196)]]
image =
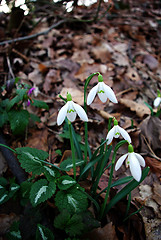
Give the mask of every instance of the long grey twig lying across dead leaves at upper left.
[(42, 31), (42, 32), (39, 32), (39, 33), (35, 33), (35, 34), (32, 34), (32, 35), (29, 35), (29, 36), (24, 36), (24, 37), (19, 37), (19, 38), (14, 38), (14, 39), (11, 39), (11, 40), (6, 40), (6, 41), (3, 41), (3, 42), (0, 42), (0, 46), (2, 45), (5, 45), (5, 44), (10, 44), (10, 43), (14, 43), (14, 42), (20, 42), (20, 41), (23, 41), (23, 40), (29, 40), (31, 38), (36, 38), (40, 35), (46, 35), (48, 34), (53, 28), (56, 28), (58, 26), (60, 26), (61, 24), (67, 22), (68, 20), (67, 19), (64, 19), (64, 20), (61, 20), (57, 23), (54, 23), (53, 25), (51, 25), (51, 27), (49, 27), (47, 30), (45, 31)]

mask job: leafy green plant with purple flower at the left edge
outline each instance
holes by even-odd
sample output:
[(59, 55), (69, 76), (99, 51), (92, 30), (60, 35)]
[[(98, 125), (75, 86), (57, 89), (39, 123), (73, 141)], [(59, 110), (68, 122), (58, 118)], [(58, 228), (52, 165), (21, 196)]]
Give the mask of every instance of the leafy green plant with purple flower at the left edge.
[[(29, 113), (27, 107), (32, 105), (48, 110), (48, 105), (43, 101), (31, 98), (35, 88), (16, 81), (14, 86), (11, 96), (4, 100), (2, 97), (0, 100), (0, 128), (9, 123), (13, 134), (20, 135), (25, 131), (30, 119), (40, 122), (39, 117)], [(2, 87), (1, 90), (5, 90), (5, 87)]]

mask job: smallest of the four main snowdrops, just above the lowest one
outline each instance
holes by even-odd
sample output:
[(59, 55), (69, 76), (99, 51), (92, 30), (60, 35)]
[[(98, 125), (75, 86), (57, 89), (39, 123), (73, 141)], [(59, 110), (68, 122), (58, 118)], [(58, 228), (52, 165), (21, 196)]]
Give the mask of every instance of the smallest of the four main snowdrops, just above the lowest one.
[(118, 126), (118, 121), (114, 119), (114, 127), (108, 132), (106, 139), (107, 145), (109, 145), (113, 138), (118, 138), (119, 136), (122, 136), (128, 143), (131, 143), (131, 138), (129, 134), (120, 126)]

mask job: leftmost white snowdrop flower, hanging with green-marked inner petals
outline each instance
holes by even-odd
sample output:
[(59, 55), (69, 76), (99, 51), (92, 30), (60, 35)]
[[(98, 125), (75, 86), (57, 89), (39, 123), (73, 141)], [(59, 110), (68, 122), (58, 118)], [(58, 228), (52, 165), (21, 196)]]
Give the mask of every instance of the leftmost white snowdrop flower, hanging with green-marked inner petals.
[(70, 93), (67, 93), (67, 103), (60, 109), (57, 117), (57, 124), (61, 125), (65, 117), (68, 118), (70, 122), (73, 122), (76, 119), (76, 115), (85, 122), (88, 121), (88, 117), (84, 109), (78, 104), (72, 101), (72, 97)]

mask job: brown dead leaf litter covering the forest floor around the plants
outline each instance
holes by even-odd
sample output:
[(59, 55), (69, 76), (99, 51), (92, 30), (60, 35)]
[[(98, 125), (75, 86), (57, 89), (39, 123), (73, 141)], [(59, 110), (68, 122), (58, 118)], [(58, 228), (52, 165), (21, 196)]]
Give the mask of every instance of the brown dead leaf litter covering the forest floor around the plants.
[[(66, 97), (70, 92), (73, 101), (83, 106), (85, 79), (94, 72), (100, 72), (104, 82), (114, 90), (118, 104), (103, 104), (95, 98), (88, 106), (89, 144), (92, 149), (100, 145), (101, 139), (107, 135), (108, 119), (115, 117), (130, 134), (135, 152), (144, 157), (150, 173), (132, 192), (134, 210), (144, 206), (139, 216), (133, 217), (133, 224), (128, 229), (124, 224), (119, 225), (116, 230), (110, 222), (104, 233), (100, 233), (101, 237), (96, 239), (119, 239), (118, 232), (122, 236), (120, 239), (135, 239), (134, 232), (138, 231), (140, 239), (159, 240), (161, 120), (152, 116), (146, 105), (148, 103), (155, 113), (153, 102), (157, 89), (161, 90), (159, 1), (125, 1), (124, 4), (113, 4), (104, 14), (108, 6), (109, 3), (102, 3), (95, 22), (90, 20), (96, 14), (97, 4), (75, 7), (70, 13), (65, 12), (62, 6), (39, 6), (34, 13), (19, 20), (20, 25), (15, 23), (14, 14), (13, 19), (11, 14), (0, 15), (1, 85), (14, 76), (19, 77), (21, 82), (36, 88), (34, 98), (49, 106), (49, 111), (32, 106), (28, 108), (30, 112), (37, 113), (41, 122), (29, 126), (25, 137), (13, 136), (8, 126), (3, 128), (3, 133), (12, 148), (28, 146), (42, 149), (50, 153), (51, 163), (62, 161), (65, 158), (63, 152), (70, 150), (70, 144), (64, 144), (59, 136), (63, 129), (56, 122), (58, 111), (63, 106), (59, 94)], [(3, 43), (8, 39), (11, 42)], [(94, 77), (87, 91), (96, 83), (97, 77)], [(84, 141), (81, 120), (77, 118), (74, 127)], [(126, 148), (121, 148), (117, 157), (126, 152)], [(0, 174), (7, 174), (7, 171), (3, 160)], [(115, 179), (125, 175), (130, 175), (130, 172), (124, 166), (114, 173)], [(101, 179), (101, 189), (106, 187), (108, 178), (107, 171)], [(113, 223), (116, 225), (117, 211), (122, 208), (125, 206), (118, 205), (114, 213)], [(0, 215), (0, 222), (3, 220)], [(91, 239), (95, 239), (94, 236)]]

